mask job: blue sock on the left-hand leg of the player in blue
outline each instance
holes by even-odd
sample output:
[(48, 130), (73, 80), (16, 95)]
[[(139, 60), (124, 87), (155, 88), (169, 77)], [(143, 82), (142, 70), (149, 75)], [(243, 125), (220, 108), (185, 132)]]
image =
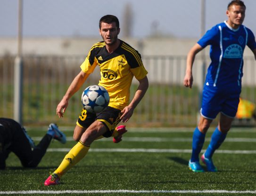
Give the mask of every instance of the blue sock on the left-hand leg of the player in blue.
[(190, 162), (198, 162), (199, 161), (199, 153), (201, 152), (201, 149), (203, 148), (204, 142), (205, 142), (205, 136), (206, 134), (201, 133), (196, 127), (194, 133), (193, 133), (193, 141), (192, 141), (192, 155)]

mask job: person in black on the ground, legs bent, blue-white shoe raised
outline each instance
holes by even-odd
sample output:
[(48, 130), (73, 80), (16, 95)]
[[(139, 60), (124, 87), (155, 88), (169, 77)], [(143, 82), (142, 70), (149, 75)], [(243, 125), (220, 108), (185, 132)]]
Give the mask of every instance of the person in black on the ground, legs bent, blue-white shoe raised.
[(0, 118), (0, 169), (5, 169), (6, 159), (13, 152), (24, 167), (36, 167), (44, 156), (52, 139), (66, 143), (66, 136), (58, 126), (51, 123), (38, 145), (27, 134), (25, 128), (10, 118)]

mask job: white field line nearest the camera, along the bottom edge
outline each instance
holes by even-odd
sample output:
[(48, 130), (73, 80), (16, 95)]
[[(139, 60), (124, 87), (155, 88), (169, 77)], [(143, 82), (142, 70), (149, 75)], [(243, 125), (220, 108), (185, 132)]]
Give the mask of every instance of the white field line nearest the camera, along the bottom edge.
[(107, 193), (183, 193), (183, 194), (256, 194), (256, 190), (21, 190), (21, 191), (0, 191), (0, 195), (33, 195), (33, 194), (107, 194)]

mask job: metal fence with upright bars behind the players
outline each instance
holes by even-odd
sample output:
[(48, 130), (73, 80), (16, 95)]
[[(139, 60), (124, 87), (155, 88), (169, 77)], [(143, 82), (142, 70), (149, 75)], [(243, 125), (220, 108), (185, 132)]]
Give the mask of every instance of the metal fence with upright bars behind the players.
[[(202, 60), (194, 63), (194, 86), (185, 88), (183, 77), (185, 56), (145, 56), (143, 62), (149, 71), (149, 89), (129, 121), (132, 126), (194, 126), (200, 103), (200, 81), (203, 80)], [(81, 94), (84, 88), (98, 84), (97, 68), (79, 92), (70, 99), (65, 117), (58, 119), (56, 107), (73, 78), (80, 71), (83, 56), (25, 56), (23, 61), (23, 122), (45, 125), (50, 122), (72, 125), (82, 110)], [(0, 58), (0, 116), (12, 118), (14, 113), (13, 85), (14, 57)], [(242, 97), (256, 100), (256, 63), (245, 58)], [(203, 77), (203, 78), (202, 78)], [(251, 78), (251, 79), (247, 79)], [(138, 83), (132, 83), (131, 96)]]

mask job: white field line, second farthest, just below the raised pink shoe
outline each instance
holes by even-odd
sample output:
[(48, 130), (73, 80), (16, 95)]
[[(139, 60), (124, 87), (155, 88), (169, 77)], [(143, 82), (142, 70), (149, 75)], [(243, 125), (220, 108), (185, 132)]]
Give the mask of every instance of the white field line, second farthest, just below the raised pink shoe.
[[(41, 137), (33, 137), (33, 141), (40, 141)], [(112, 138), (110, 138), (112, 139)], [(102, 138), (96, 141), (108, 141), (109, 138)], [(74, 141), (73, 137), (66, 137), (67, 141)], [(166, 137), (123, 137), (122, 142), (192, 142), (192, 138), (166, 138)], [(211, 138), (206, 138), (205, 141), (211, 141)], [(225, 142), (256, 142), (256, 138), (226, 138)]]

